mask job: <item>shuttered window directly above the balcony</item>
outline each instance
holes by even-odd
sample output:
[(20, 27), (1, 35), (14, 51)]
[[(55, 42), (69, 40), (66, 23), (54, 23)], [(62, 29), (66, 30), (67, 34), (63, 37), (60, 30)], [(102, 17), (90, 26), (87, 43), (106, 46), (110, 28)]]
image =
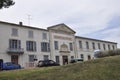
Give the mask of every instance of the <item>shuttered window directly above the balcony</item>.
[(20, 49), (21, 48), (21, 41), (15, 40), (15, 39), (10, 39), (9, 40), (9, 48), (10, 49)]

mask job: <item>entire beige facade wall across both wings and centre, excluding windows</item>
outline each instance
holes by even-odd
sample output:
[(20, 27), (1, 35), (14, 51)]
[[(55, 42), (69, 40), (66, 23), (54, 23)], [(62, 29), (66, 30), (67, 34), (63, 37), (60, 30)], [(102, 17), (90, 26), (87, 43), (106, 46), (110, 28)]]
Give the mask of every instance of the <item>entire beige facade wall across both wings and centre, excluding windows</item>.
[[(12, 28), (18, 29), (18, 36), (12, 36)], [(33, 38), (28, 38), (28, 31), (31, 30), (34, 33)], [(70, 32), (70, 30), (68, 30)], [(47, 33), (47, 40), (42, 39), (42, 33)], [(56, 38), (61, 37), (61, 38)], [(63, 39), (62, 39), (63, 38)], [(57, 32), (53, 30), (37, 30), (27, 27), (20, 27), (17, 25), (10, 25), (10, 24), (2, 24), (0, 23), (0, 59), (3, 59), (4, 62), (11, 61), (11, 55), (7, 53), (7, 49), (9, 48), (9, 39), (18, 39), (21, 40), (21, 48), (24, 49), (24, 54), (19, 55), (19, 64), (21, 64), (23, 67), (26, 66), (26, 63), (29, 62), (29, 55), (36, 55), (38, 60), (43, 60), (43, 55), (48, 55), (49, 59), (52, 59), (55, 61), (55, 56), (60, 57), (60, 64), (62, 64), (62, 54), (60, 53), (60, 47), (62, 44), (66, 44), (68, 46), (69, 50), (69, 43), (73, 43), (73, 51), (70, 51), (68, 58), (69, 61), (71, 60), (71, 56), (74, 56), (74, 58), (81, 58), (80, 54), (84, 55), (84, 60), (88, 60), (88, 55), (93, 58), (93, 48), (92, 48), (92, 42), (95, 43), (96, 49), (98, 49), (98, 44), (101, 45), (101, 50), (103, 49), (103, 44), (106, 45), (106, 50), (108, 50), (108, 44), (110, 45), (112, 49), (112, 45), (115, 46), (115, 49), (117, 48), (117, 44), (109, 43), (109, 42), (100, 42), (100, 41), (94, 41), (90, 39), (82, 39), (82, 38), (75, 38), (75, 34), (68, 34), (63, 32)], [(26, 41), (31, 40), (35, 41), (37, 44), (37, 51), (36, 52), (28, 52), (26, 51)], [(54, 49), (54, 41), (58, 41), (59, 43), (59, 50)], [(79, 41), (82, 41), (83, 48), (79, 48)], [(86, 41), (89, 42), (89, 49), (86, 49)], [(50, 43), (50, 52), (41, 52), (41, 42), (49, 42)]]

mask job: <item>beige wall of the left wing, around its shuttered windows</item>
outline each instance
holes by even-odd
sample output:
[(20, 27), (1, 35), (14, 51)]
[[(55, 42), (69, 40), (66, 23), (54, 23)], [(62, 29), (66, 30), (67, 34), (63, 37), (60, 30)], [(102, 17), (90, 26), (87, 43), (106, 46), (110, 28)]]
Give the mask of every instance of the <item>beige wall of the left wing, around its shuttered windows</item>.
[[(12, 28), (18, 29), (18, 36), (12, 36)], [(33, 31), (34, 37), (28, 38), (28, 31)], [(47, 40), (42, 39), (42, 33), (47, 33)], [(25, 63), (29, 62), (28, 55), (36, 55), (38, 60), (43, 59), (43, 55), (50, 56), (50, 52), (41, 52), (41, 42), (49, 42), (49, 35), (47, 31), (0, 24), (0, 59), (4, 58), (4, 62), (11, 61), (11, 55), (7, 53), (7, 49), (9, 48), (9, 39), (18, 39), (21, 40), (21, 48), (24, 49), (24, 54), (19, 56), (19, 63), (22, 66), (25, 66)], [(36, 52), (26, 51), (26, 41), (31, 40), (35, 41), (37, 44)]]

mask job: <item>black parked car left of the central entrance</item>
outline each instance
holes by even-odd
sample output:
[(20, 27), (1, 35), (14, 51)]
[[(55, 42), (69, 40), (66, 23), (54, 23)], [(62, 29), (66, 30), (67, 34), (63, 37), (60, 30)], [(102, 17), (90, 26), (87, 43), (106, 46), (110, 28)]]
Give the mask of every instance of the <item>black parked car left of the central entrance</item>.
[(47, 66), (59, 66), (60, 64), (56, 63), (53, 60), (40, 60), (38, 62), (38, 67), (47, 67)]

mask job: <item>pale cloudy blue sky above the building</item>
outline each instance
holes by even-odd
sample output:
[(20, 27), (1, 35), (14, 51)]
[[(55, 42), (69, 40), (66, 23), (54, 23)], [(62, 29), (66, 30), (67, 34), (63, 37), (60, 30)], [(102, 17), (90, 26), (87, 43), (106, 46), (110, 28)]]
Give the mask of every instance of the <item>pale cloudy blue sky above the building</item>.
[[(65, 23), (77, 36), (115, 41), (120, 48), (120, 0), (14, 0), (0, 20), (47, 28)], [(28, 20), (30, 16), (30, 24)]]

